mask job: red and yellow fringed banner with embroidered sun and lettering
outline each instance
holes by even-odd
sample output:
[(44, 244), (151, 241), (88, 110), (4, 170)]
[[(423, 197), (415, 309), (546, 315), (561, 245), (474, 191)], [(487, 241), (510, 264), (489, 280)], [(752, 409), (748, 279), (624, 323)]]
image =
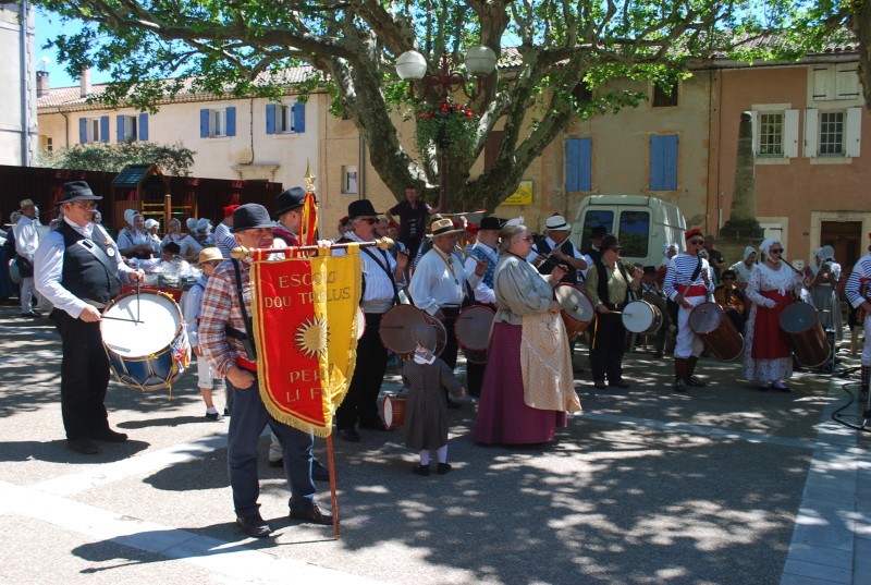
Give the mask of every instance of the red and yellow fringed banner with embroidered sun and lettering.
[(345, 256), (280, 260), (255, 251), (257, 373), (263, 404), (278, 421), (318, 437), (332, 431), (356, 362), (360, 275), (357, 245)]

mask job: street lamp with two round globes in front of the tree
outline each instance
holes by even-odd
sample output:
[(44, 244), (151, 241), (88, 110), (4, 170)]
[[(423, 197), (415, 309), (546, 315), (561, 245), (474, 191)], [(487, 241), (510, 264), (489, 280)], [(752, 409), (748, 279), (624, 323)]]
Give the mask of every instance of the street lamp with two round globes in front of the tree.
[[(441, 57), (441, 69), (438, 73), (427, 75), (427, 60), (417, 51), (406, 51), (396, 59), (396, 73), (408, 82), (408, 97), (416, 103), (425, 101), (434, 93), (441, 105), (449, 103), (451, 94), (463, 89), (471, 101), (483, 90), (483, 80), (496, 66), (496, 56), (490, 47), (473, 47), (466, 53), (466, 71), (476, 77), (475, 88), (469, 93), (468, 78), (458, 71), (451, 71), (447, 52)], [(424, 81), (424, 88), (418, 95), (415, 82)], [(439, 210), (447, 211), (447, 147), (446, 138), (439, 141)]]

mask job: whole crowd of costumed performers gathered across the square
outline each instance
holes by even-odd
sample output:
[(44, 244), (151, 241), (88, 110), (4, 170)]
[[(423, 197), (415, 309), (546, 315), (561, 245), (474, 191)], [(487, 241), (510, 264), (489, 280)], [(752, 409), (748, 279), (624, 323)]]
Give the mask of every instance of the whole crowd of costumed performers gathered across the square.
[[(53, 305), (63, 339), (61, 402), (69, 448), (91, 454), (99, 451), (95, 441), (126, 440), (125, 434), (111, 430), (103, 406), (108, 364), (99, 312), (118, 295), (122, 280), (144, 280), (144, 269), (156, 255), (164, 255), (163, 261), (180, 258), (199, 269), (183, 308), (210, 421), (222, 419), (211, 392), (217, 381), (225, 382), (229, 474), (240, 528), (252, 537), (271, 534), (258, 511), (257, 443), (266, 426), (272, 431), (270, 464), (284, 468), (290, 486), (291, 517), (332, 523), (332, 515), (316, 501), (314, 482), (329, 474), (314, 458), (312, 435), (277, 421), (259, 392), (252, 391), (258, 374), (250, 332), (250, 265), (232, 260), (230, 254), (237, 245), (298, 245), (305, 191), (283, 192), (274, 214), (257, 204), (230, 206), (213, 233), (208, 220), (189, 220), (187, 234), (171, 220), (160, 239), (157, 226), (130, 211), (116, 244), (95, 222), (100, 196), (84, 182), (68, 183), (63, 193), (57, 229), (38, 243), (32, 260), (35, 289)], [(686, 232), (683, 251), (667, 244), (661, 266), (641, 267), (621, 258), (617, 237), (603, 227), (592, 227), (590, 246), (581, 253), (568, 239), (572, 226), (556, 214), (547, 219), (541, 236), (523, 218), (484, 217), (478, 226), (468, 226), (419, 202), (413, 187), (404, 202), (383, 214), (366, 199), (353, 202), (347, 211), (336, 242), (394, 235), (397, 245), (390, 252), (360, 248), (359, 306), (366, 327), (347, 395), (335, 413), (338, 436), (357, 442), (368, 432), (389, 430), (378, 406), (391, 358), (380, 326), (398, 305), (412, 304), (426, 316), (408, 328), (415, 350), (403, 356), (402, 366), (407, 389), (404, 434), (407, 447), (419, 454), (412, 468), (418, 475), (430, 474), (433, 453), (437, 473), (451, 471), (449, 410), (459, 406), (451, 397), (466, 392), (477, 399), (476, 442), (553, 440), (567, 415), (580, 410), (575, 379), (582, 370), (573, 358), (577, 339), (586, 338), (589, 344), (594, 388), (628, 388), (623, 358), (631, 336), (621, 317), (634, 300), (648, 302), (661, 315), (654, 356), (673, 352), (675, 392), (706, 385), (696, 371), (706, 345), (690, 324), (694, 309), (703, 303), (719, 305), (744, 334), (744, 375), (760, 390), (789, 391), (784, 380), (792, 375), (793, 355), (777, 324), (796, 300), (813, 303), (826, 327), (839, 327), (835, 307), (841, 267), (827, 246), (818, 251), (815, 266), (805, 272), (782, 261), (785, 251), (774, 239), (758, 249), (748, 246), (741, 260), (728, 266), (713, 248), (714, 240), (694, 229)], [(461, 242), (466, 232), (473, 241)], [(318, 242), (323, 248), (332, 244)], [(107, 281), (106, 273), (113, 278)], [(869, 279), (871, 254), (859, 260), (845, 288), (866, 338), (871, 334)], [(584, 291), (590, 303), (589, 327), (582, 334), (566, 327), (573, 324), (554, 294), (560, 287)], [(454, 325), (469, 306), (489, 307), (492, 325), (484, 348), (479, 348), (484, 358), (468, 359), (464, 387), (455, 376), (461, 341)], [(867, 391), (871, 346), (866, 346), (861, 363)]]

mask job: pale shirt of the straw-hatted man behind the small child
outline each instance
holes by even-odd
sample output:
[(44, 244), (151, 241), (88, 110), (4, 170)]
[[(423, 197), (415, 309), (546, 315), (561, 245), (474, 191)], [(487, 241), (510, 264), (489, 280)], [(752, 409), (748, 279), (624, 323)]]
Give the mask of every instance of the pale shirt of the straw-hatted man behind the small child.
[(442, 251), (432, 246), (417, 264), (408, 292), (417, 308), (436, 315), (441, 305), (458, 306), (463, 303), (466, 280), (475, 288), (481, 277), (475, 272), (467, 273), (463, 263), (454, 254), (445, 256)]

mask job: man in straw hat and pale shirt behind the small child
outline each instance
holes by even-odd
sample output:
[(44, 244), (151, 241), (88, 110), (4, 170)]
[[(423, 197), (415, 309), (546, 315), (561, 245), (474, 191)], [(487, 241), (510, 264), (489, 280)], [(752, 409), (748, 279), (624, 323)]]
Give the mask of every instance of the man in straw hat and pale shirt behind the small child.
[[(454, 228), (450, 219), (438, 219), (430, 227), (432, 249), (427, 252), (415, 269), (408, 292), (417, 308), (443, 322), (447, 339), (440, 357), (451, 369), (456, 367), (457, 341), (454, 322), (466, 296), (466, 282), (473, 289), (478, 285), (487, 268), (486, 263), (477, 263), (475, 271), (467, 272), (463, 263), (454, 254), (462, 229)], [(459, 404), (449, 401), (450, 407)]]

